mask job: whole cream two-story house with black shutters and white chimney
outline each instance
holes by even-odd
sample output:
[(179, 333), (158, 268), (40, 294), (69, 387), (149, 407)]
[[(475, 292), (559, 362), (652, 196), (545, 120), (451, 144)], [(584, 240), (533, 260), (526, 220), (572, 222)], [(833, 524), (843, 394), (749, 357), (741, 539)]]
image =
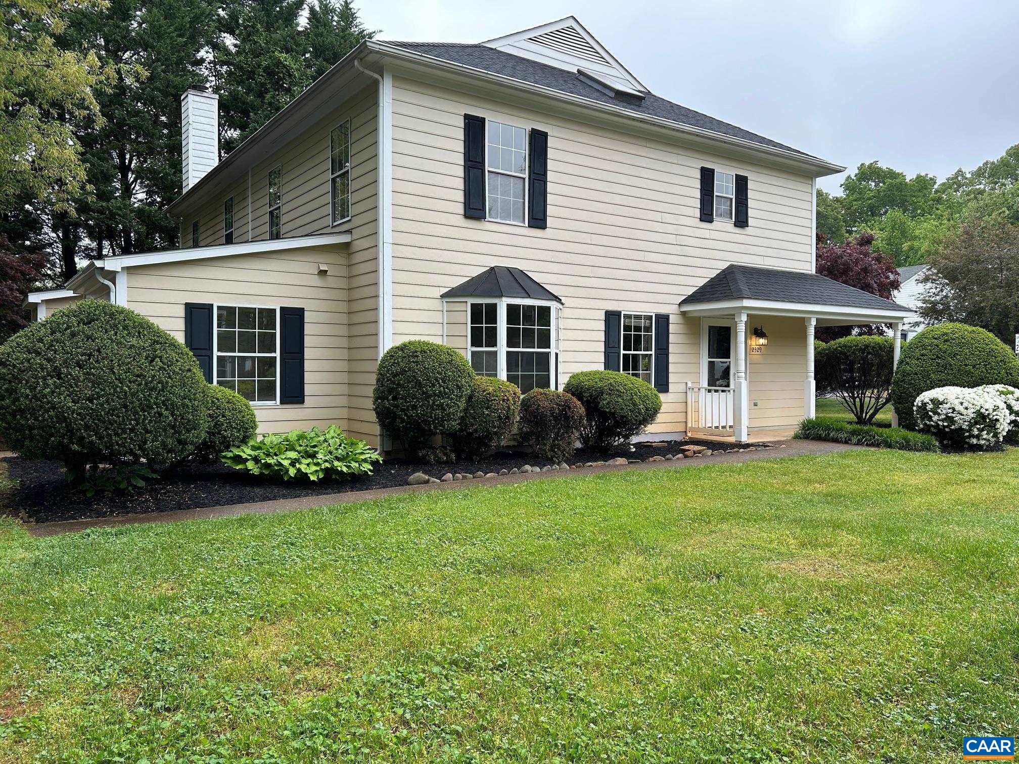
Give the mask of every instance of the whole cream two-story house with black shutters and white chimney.
[(385, 447), (378, 359), (425, 338), (524, 391), (633, 374), (650, 436), (745, 440), (812, 414), (815, 325), (910, 316), (814, 274), (815, 180), (843, 167), (655, 96), (572, 16), (362, 43), (218, 163), (216, 96), (182, 110), (182, 249), (66, 290), (186, 342), (266, 432)]

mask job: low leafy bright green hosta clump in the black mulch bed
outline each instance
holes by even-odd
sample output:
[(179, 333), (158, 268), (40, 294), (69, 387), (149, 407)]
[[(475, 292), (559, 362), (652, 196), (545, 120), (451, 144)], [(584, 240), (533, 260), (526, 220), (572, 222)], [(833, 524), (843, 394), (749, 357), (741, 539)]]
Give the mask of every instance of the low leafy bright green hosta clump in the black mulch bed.
[(344, 480), (371, 475), (382, 461), (365, 441), (348, 438), (335, 425), (265, 435), (226, 451), (223, 462), (235, 470), (284, 481)]

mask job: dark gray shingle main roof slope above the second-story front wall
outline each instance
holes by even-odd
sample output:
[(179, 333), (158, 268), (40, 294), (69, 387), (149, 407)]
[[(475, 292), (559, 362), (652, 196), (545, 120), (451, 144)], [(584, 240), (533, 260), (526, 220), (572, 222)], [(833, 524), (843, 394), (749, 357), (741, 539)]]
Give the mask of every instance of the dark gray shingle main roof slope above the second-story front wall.
[(817, 157), (813, 157), (810, 154), (799, 151), (798, 149), (786, 146), (785, 144), (780, 144), (776, 141), (771, 141), (770, 139), (758, 135), (750, 130), (737, 127), (734, 124), (722, 122), (720, 119), (709, 117), (707, 114), (701, 114), (699, 111), (688, 109), (686, 106), (680, 106), (680, 104), (666, 101), (663, 98), (655, 96), (653, 93), (648, 93), (643, 101), (640, 102), (626, 96), (613, 98), (594, 86), (585, 83), (577, 75), (576, 72), (567, 71), (566, 69), (541, 63), (540, 61), (532, 61), (530, 58), (517, 56), (513, 53), (496, 50), (495, 48), (489, 48), (484, 45), (467, 45), (464, 43), (413, 43), (395, 42), (391, 40), (379, 42), (383, 42), (386, 45), (406, 48), (407, 50), (415, 51), (427, 56), (441, 58), (444, 61), (450, 61), (464, 66), (472, 66), (477, 69), (483, 69), (484, 71), (490, 71), (493, 74), (502, 74), (504, 76), (513, 77), (514, 79), (530, 83), (531, 85), (550, 88), (571, 96), (581, 96), (583, 98), (591, 99), (592, 101), (610, 104), (612, 106), (626, 109), (627, 111), (632, 111), (636, 114), (659, 117), (661, 119), (667, 119), (671, 122), (677, 122), (678, 124), (710, 130), (711, 132), (717, 132), (730, 138), (749, 141), (759, 146), (791, 151), (809, 159), (817, 159)]

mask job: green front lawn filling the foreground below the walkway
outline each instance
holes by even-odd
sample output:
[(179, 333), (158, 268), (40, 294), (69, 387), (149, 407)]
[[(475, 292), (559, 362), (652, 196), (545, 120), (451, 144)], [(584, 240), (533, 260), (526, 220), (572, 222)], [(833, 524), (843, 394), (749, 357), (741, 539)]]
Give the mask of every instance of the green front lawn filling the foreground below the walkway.
[(0, 761), (958, 761), (1019, 726), (1019, 449), (33, 539)]

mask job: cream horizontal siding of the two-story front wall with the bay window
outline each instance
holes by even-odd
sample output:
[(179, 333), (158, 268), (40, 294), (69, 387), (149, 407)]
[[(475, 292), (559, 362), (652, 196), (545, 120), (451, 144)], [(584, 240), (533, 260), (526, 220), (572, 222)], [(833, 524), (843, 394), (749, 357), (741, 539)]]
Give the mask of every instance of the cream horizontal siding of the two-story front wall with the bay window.
[[(464, 217), (465, 113), (549, 133), (547, 229)], [(700, 322), (680, 301), (730, 263), (811, 269), (808, 176), (407, 77), (393, 78), (392, 121), (394, 343), (439, 340), (439, 294), (492, 265), (522, 268), (565, 301), (560, 383), (602, 368), (606, 310), (667, 313), (671, 392), (651, 431), (675, 432), (684, 383), (700, 375)], [(702, 165), (748, 175), (749, 228), (700, 222)], [(466, 349), (451, 309), (446, 341)], [(766, 324), (774, 339), (751, 364), (750, 424), (788, 427), (803, 415), (805, 328)]]

